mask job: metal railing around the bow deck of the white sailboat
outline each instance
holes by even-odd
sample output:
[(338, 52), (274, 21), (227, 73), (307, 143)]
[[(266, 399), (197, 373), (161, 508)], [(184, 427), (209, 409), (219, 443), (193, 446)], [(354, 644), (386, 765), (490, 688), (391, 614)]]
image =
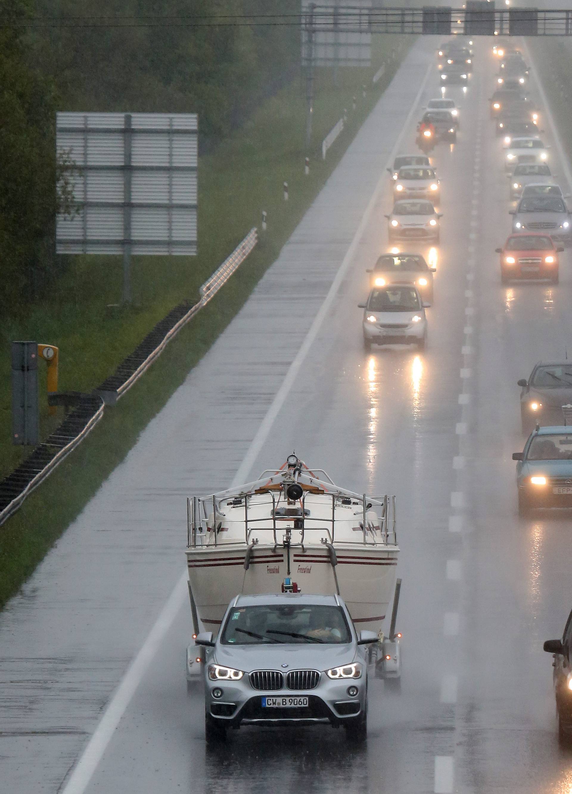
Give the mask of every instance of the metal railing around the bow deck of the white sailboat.
[[(276, 492), (279, 494), (278, 499), (276, 499)], [(268, 499), (261, 500), (263, 495), (268, 497)], [(348, 541), (344, 538), (343, 542), (360, 543), (361, 545), (397, 544), (395, 496), (357, 495), (351, 491), (343, 491), (343, 489), (339, 488), (330, 493), (320, 493), (320, 496), (328, 496), (331, 499), (330, 515), (329, 517), (322, 517), (315, 515), (315, 511), (313, 511), (314, 515), (311, 515), (309, 521), (314, 525), (318, 523), (319, 526), (307, 526), (307, 518), (310, 511), (306, 508), (306, 499), (309, 495), (315, 496), (315, 491), (303, 491), (297, 507), (292, 506), (291, 503), (288, 513), (283, 515), (278, 515), (276, 512), (280, 509), (279, 506), (282, 499), (284, 499), (284, 507), (288, 505), (288, 500), (284, 498), (281, 491), (266, 490), (262, 493), (260, 491), (257, 493), (245, 492), (243, 489), (240, 491), (235, 490), (234, 492), (224, 491), (222, 499), (220, 494), (212, 494), (207, 497), (194, 496), (192, 499), (187, 499), (187, 546), (195, 548), (196, 546), (207, 545), (207, 543), (209, 545), (218, 545), (218, 533), (225, 518), (224, 507), (229, 505), (239, 507), (242, 504), (244, 505), (245, 545), (259, 542), (260, 535), (268, 533), (272, 537), (272, 544), (275, 546), (286, 544), (303, 546), (307, 537), (315, 536), (316, 533), (322, 533), (323, 536), (324, 531), (327, 537), (323, 538), (323, 542), (333, 544), (336, 542), (336, 524), (343, 521), (347, 526), (349, 518), (347, 513), (348, 504), (357, 507), (354, 515), (361, 513), (361, 521), (359, 521), (361, 539), (360, 541)], [(256, 503), (251, 505), (253, 497), (256, 497)], [(342, 504), (343, 514), (339, 515), (338, 511)], [(261, 508), (264, 509), (266, 505), (269, 507), (270, 515), (253, 515), (253, 507), (256, 508), (257, 513), (260, 513)], [(372, 527), (367, 517), (368, 512), (372, 508), (377, 508), (381, 513), (381, 515), (378, 514), (379, 530), (375, 526)], [(212, 526), (208, 526), (210, 518)], [(293, 526), (280, 526), (282, 522), (288, 522), (288, 525)], [(281, 531), (284, 534), (280, 539), (278, 535)], [(295, 540), (292, 535), (296, 532), (299, 532), (300, 536)], [(253, 538), (253, 534), (257, 537)], [(240, 541), (236, 539), (233, 542)]]

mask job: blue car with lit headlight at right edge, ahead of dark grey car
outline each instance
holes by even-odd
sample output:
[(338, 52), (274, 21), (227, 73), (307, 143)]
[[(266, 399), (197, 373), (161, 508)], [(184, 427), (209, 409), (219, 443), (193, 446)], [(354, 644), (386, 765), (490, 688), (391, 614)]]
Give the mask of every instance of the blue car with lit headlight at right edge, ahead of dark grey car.
[(572, 507), (572, 426), (535, 427), (516, 464), (519, 515), (535, 507)]

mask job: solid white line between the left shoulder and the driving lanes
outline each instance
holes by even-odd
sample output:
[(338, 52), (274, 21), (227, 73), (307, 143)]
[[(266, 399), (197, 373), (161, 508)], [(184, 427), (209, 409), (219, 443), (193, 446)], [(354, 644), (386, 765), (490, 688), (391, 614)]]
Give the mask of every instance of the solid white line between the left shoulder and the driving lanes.
[[(415, 95), (415, 99), (412, 103), (412, 108), (404, 121), (403, 128), (397, 137), (396, 144), (392, 148), (392, 151), (388, 157), (386, 168), (389, 168), (389, 166), (392, 164), (392, 161), (395, 160), (396, 152), (400, 147), (401, 140), (408, 131), (412, 116), (417, 110), (419, 99), (425, 90), (427, 79), (429, 78), (431, 71), (432, 70), (429, 69), (425, 73), (425, 77), (421, 82), (419, 91)], [(383, 98), (383, 95), (381, 98)], [(381, 98), (379, 100), (380, 102)], [(373, 195), (369, 199), (369, 203), (361, 217), (361, 222), (357, 226), (357, 230), (350, 243), (350, 247), (346, 252), (346, 256), (344, 256), (342, 264), (338, 269), (338, 273), (331, 284), (330, 290), (328, 291), (318, 314), (316, 314), (314, 322), (312, 322), (310, 329), (306, 334), (306, 338), (300, 347), (300, 350), (298, 353), (296, 353), (296, 357), (294, 357), (292, 364), (290, 364), (288, 372), (286, 373), (286, 376), (284, 376), (284, 381), (282, 382), (279, 390), (276, 392), (276, 395), (272, 400), (272, 404), (270, 405), (265, 418), (262, 420), (261, 426), (257, 430), (257, 434), (251, 441), (249, 449), (242, 460), (242, 464), (240, 464), (238, 467), (238, 471), (234, 476), (232, 487), (245, 482), (246, 475), (250, 471), (250, 468), (252, 468), (258, 453), (260, 453), (262, 445), (264, 444), (270, 430), (272, 429), (272, 423), (276, 419), (276, 415), (280, 411), (280, 408), (283, 406), (284, 400), (288, 396), (288, 391), (290, 391), (292, 388), (292, 384), (296, 379), (296, 375), (300, 371), (303, 360), (306, 358), (307, 353), (311, 348), (311, 344), (315, 340), (320, 326), (326, 318), (327, 310), (330, 308), (330, 304), (333, 302), (335, 295), (338, 292), (340, 284), (342, 283), (342, 279), (346, 275), (346, 270), (350, 266), (350, 261), (352, 260), (354, 252), (357, 249), (357, 245), (359, 245), (361, 236), (364, 233), (365, 225), (369, 222), (369, 216), (373, 211), (373, 207), (375, 206), (377, 198), (379, 197), (383, 187), (387, 184), (387, 181), (387, 172), (384, 168), (382, 175), (373, 190)], [(98, 726), (95, 728), (94, 734), (91, 736), (89, 742), (87, 742), (87, 746), (79, 757), (79, 761), (73, 768), (68, 782), (64, 785), (64, 788), (61, 789), (61, 794), (83, 794), (83, 792), (85, 792), (87, 785), (91, 781), (91, 777), (93, 777), (95, 769), (97, 769), (99, 761), (101, 761), (102, 756), (106, 751), (106, 747), (114, 734), (114, 730), (118, 727), (118, 724), (122, 719), (122, 716), (125, 714), (126, 709), (137, 690), (137, 687), (141, 683), (141, 680), (143, 679), (143, 676), (149, 667), (149, 664), (153, 660), (155, 653), (157, 653), (161, 640), (164, 638), (164, 635), (167, 634), (169, 628), (172, 626), (172, 622), (175, 619), (177, 612), (180, 610), (181, 604), (183, 603), (187, 592), (187, 588), (185, 587), (186, 579), (187, 572), (185, 571), (177, 581), (175, 588), (171, 592), (171, 595), (169, 595), (167, 603), (160, 611), (157, 621), (153, 625), (153, 628), (149, 632), (145, 642), (141, 646), (141, 649), (138, 651), (137, 656), (133, 659), (129, 665), (129, 668), (126, 670), (125, 675), (118, 684), (118, 688), (115, 690), (110, 702), (106, 707), (106, 710), (103, 712), (103, 716), (100, 719)]]

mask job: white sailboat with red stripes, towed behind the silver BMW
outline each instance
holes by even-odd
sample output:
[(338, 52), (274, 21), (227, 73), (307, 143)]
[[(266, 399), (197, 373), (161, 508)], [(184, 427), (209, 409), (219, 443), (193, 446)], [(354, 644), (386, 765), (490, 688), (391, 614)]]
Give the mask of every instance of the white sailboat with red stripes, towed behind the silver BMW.
[(341, 595), (357, 627), (382, 637), (396, 586), (395, 497), (340, 488), (290, 455), (252, 483), (187, 499), (186, 553), (195, 631), (197, 619), (216, 631), (234, 595), (290, 590)]

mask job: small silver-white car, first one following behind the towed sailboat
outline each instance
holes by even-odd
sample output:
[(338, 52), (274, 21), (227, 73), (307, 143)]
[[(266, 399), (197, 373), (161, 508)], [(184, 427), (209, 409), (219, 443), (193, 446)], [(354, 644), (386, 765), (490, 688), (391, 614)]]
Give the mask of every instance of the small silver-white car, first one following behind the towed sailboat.
[(390, 284), (374, 287), (367, 303), (359, 303), (364, 309), (364, 347), (376, 345), (417, 345), (419, 350), (427, 342), (427, 318), (417, 287), (411, 284)]

